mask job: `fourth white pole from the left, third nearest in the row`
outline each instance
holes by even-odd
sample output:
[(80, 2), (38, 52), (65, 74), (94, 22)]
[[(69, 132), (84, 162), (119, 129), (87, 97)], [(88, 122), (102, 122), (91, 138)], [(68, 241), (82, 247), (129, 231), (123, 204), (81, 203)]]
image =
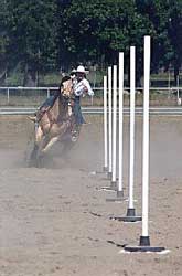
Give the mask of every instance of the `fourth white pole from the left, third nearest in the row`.
[(122, 191), (122, 128), (124, 128), (124, 53), (119, 53), (119, 179), (118, 192)]

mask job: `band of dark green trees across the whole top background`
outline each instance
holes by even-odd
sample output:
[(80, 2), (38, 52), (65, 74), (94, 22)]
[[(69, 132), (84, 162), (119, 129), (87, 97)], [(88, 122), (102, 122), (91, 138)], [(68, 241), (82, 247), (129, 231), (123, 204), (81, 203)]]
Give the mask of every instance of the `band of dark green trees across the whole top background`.
[(152, 36), (152, 71), (182, 65), (181, 0), (0, 0), (0, 60), (10, 70), (47, 73), (60, 67), (117, 63)]

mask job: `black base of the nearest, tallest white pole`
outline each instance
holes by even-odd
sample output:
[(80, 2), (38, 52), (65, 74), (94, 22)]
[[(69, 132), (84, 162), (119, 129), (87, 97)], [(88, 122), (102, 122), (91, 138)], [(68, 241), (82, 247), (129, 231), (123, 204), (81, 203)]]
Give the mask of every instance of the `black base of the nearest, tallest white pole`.
[(158, 253), (165, 251), (164, 247), (162, 246), (150, 246), (150, 237), (149, 236), (140, 236), (140, 243), (139, 246), (125, 246), (126, 252), (139, 252), (139, 253), (144, 253), (144, 252), (151, 252), (151, 253)]

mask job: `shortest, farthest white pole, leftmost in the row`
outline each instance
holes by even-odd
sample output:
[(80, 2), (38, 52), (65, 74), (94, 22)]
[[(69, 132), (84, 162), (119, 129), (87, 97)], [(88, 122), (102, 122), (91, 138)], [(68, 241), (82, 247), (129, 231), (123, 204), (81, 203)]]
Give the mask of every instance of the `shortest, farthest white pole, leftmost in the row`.
[(108, 170), (107, 155), (107, 76), (104, 76), (104, 147), (105, 147), (105, 163), (104, 170)]

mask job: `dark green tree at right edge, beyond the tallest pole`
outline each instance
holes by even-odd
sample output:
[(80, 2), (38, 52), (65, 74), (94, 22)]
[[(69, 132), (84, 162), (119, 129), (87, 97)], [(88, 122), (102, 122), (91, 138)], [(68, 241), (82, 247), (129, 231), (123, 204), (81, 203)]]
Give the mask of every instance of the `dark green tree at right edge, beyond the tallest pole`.
[(137, 0), (141, 14), (149, 17), (153, 24), (152, 68), (174, 67), (174, 78), (182, 65), (182, 1), (181, 0)]

